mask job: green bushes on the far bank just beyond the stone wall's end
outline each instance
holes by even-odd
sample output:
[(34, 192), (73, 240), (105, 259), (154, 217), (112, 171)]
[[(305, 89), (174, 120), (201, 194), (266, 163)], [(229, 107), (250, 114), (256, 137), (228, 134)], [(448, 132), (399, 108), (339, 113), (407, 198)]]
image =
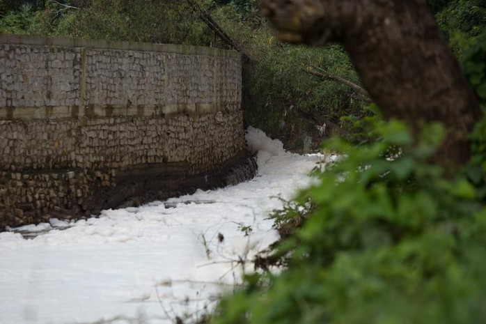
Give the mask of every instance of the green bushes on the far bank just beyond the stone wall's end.
[[(281, 139), (286, 148), (301, 149), (306, 138), (318, 148), (322, 136), (316, 125), (322, 125), (324, 119), (348, 127), (350, 124), (340, 123), (341, 116), (362, 118), (370, 113), (363, 111), (363, 102), (354, 98), (347, 86), (322, 81), (306, 72), (309, 65), (315, 65), (359, 84), (342, 47), (283, 44), (272, 36), (253, 2), (246, 3), (247, 10), (238, 5), (244, 1), (227, 2), (230, 4), (214, 8), (212, 15), (253, 59), (244, 64), (242, 105), (246, 125)], [(329, 132), (322, 135), (329, 136)]]

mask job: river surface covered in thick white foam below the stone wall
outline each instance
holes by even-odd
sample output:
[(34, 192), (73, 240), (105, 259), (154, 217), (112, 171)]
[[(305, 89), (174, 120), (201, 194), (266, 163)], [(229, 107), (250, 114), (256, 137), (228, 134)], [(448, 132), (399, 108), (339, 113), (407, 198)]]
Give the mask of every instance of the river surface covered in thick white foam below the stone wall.
[(173, 323), (210, 309), (240, 281), (237, 260), (278, 238), (275, 196), (290, 199), (322, 160), (248, 137), (261, 151), (246, 183), (0, 233), (0, 323)]

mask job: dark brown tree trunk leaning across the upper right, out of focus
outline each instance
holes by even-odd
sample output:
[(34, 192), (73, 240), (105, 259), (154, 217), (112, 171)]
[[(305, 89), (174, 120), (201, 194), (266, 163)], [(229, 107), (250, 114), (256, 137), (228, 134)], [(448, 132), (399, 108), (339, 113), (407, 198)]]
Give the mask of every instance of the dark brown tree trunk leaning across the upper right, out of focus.
[(282, 40), (342, 43), (386, 118), (414, 134), (423, 121), (444, 123), (435, 160), (449, 171), (469, 160), (480, 109), (425, 0), (262, 0), (262, 10)]

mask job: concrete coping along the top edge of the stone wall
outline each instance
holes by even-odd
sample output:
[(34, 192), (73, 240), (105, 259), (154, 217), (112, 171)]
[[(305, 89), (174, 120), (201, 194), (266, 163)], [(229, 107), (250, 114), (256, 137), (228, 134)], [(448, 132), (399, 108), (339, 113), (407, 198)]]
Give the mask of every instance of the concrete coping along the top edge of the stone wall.
[(59, 47), (84, 47), (95, 49), (120, 49), (143, 52), (164, 52), (184, 55), (219, 56), (240, 59), (241, 54), (233, 50), (214, 47), (174, 44), (134, 43), (110, 40), (84, 40), (75, 38), (43, 37), (31, 35), (0, 34), (1, 44), (37, 45)]

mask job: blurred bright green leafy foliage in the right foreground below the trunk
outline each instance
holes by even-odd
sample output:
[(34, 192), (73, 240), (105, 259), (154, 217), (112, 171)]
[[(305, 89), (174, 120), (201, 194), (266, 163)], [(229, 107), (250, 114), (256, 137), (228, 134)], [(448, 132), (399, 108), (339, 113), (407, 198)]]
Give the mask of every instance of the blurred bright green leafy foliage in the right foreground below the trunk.
[(486, 209), (467, 180), (427, 163), (444, 133), (430, 125), (414, 145), (405, 125), (381, 122), (374, 144), (324, 144), (343, 159), (275, 214), (279, 226), (304, 217), (273, 256), (288, 268), (249, 277), (212, 323), (486, 321)]

